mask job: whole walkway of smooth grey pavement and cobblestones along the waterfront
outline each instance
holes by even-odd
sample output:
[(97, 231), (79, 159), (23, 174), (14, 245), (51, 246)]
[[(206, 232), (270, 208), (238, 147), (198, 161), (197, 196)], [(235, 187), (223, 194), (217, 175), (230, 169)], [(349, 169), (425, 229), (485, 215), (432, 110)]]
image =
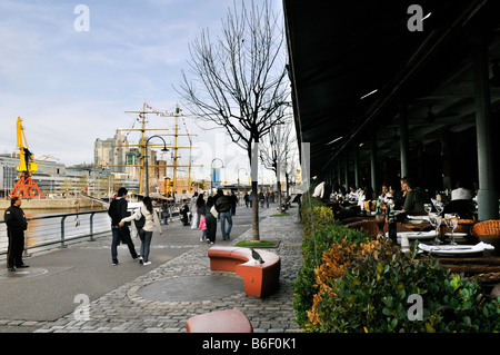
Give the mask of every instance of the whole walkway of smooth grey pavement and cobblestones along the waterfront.
[[(154, 231), (149, 266), (132, 260), (123, 245), (120, 264), (112, 266), (106, 236), (26, 258), (26, 275), (1, 272), (0, 332), (186, 333), (189, 317), (232, 308), (247, 315), (254, 333), (300, 332), (293, 322), (292, 283), (302, 262), (302, 227), (297, 208), (291, 216), (272, 217), (276, 207), (259, 209), (261, 239), (280, 240), (270, 249), (281, 257), (280, 285), (267, 298), (247, 296), (236, 274), (211, 272), (210, 245), (200, 241), (200, 230), (173, 218), (162, 235)], [(251, 239), (251, 209), (237, 208), (231, 240), (221, 240), (219, 227), (216, 245)], [(140, 240), (134, 244), (139, 250)], [(89, 300), (88, 308), (81, 299)]]

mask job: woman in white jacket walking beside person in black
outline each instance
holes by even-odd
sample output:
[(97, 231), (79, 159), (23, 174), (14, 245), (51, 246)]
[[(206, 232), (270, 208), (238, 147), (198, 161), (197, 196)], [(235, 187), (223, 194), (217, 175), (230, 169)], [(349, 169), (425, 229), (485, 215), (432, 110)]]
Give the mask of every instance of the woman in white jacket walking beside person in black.
[(144, 216), (144, 226), (138, 230), (139, 238), (141, 239), (141, 252), (140, 252), (140, 263), (142, 265), (150, 265), (149, 262), (149, 250), (152, 239), (153, 227), (157, 227), (158, 233), (161, 235), (161, 226), (158, 219), (157, 213), (154, 211), (151, 198), (146, 196), (142, 200), (142, 205), (140, 208), (136, 209), (136, 211), (130, 217), (126, 217), (120, 221), (120, 226), (123, 226), (126, 221), (131, 221), (134, 219), (140, 219), (141, 216)]

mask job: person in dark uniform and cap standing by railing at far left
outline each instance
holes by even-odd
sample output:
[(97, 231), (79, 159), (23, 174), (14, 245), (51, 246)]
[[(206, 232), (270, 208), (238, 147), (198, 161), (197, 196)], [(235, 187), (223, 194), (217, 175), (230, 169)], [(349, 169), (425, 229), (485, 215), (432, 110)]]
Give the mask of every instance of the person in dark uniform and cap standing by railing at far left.
[(16, 267), (29, 267), (22, 262), (24, 230), (28, 229), (28, 221), (21, 204), (20, 197), (13, 197), (10, 200), (10, 207), (3, 214), (3, 220), (7, 225), (7, 236), (9, 238), (7, 249), (7, 269), (9, 272), (16, 272)]

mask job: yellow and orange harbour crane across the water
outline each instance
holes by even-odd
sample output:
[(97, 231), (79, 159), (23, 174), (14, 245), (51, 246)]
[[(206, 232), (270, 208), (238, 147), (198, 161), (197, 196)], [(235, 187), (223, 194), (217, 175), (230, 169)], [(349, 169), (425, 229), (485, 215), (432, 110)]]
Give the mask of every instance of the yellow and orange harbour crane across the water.
[(20, 162), (17, 166), (19, 179), (16, 183), (9, 198), (43, 198), (43, 194), (40, 191), (38, 184), (31, 178), (31, 174), (38, 170), (38, 164), (34, 162), (33, 154), (28, 149), (28, 142), (24, 136), (24, 128), (22, 127), (22, 120), (18, 117), (17, 122), (17, 144), (19, 149)]

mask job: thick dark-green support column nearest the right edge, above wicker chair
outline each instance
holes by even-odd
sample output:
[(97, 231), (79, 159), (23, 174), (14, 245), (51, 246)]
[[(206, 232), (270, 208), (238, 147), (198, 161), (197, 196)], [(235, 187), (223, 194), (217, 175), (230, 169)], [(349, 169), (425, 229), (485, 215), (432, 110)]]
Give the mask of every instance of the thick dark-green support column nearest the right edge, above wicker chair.
[(498, 191), (494, 180), (494, 157), (488, 78), (488, 47), (484, 36), (473, 38), (472, 66), (474, 73), (476, 135), (478, 140), (478, 218), (498, 219)]

